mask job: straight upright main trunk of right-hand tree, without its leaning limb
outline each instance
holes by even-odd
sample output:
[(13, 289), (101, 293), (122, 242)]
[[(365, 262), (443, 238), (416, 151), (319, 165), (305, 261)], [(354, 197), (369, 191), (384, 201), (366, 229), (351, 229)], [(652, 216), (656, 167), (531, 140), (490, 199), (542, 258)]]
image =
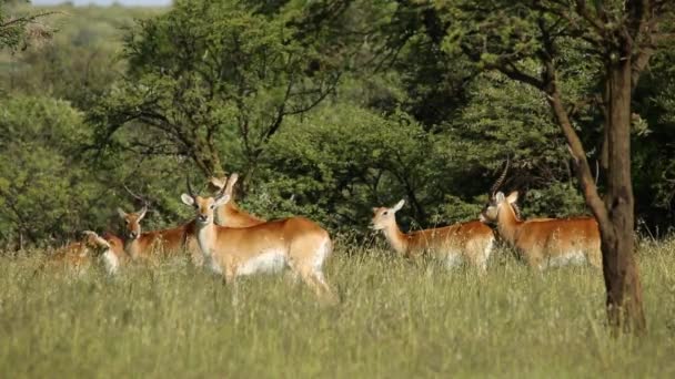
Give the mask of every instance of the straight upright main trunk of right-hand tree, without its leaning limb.
[[(625, 45), (627, 45), (626, 43)], [(601, 227), (603, 274), (609, 325), (624, 331), (646, 328), (642, 285), (634, 257), (634, 209), (631, 180), (631, 53), (611, 54), (607, 61), (607, 227)]]

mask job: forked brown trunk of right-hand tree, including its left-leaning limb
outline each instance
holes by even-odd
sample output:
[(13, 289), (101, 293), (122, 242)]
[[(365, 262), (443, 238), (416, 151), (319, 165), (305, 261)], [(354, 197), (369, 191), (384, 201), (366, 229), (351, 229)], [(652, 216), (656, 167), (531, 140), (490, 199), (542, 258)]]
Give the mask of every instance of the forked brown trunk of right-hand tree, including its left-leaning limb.
[[(628, 47), (628, 43), (624, 45)], [(635, 242), (631, 182), (631, 59), (629, 54), (615, 55), (623, 57), (609, 59), (606, 63), (607, 193), (604, 202), (595, 187), (582, 142), (563, 106), (555, 68), (551, 60), (544, 61), (544, 91), (570, 144), (586, 205), (600, 226), (609, 325), (614, 331), (623, 327), (624, 331), (639, 334), (645, 330), (646, 321), (642, 307), (639, 274), (633, 255)]]

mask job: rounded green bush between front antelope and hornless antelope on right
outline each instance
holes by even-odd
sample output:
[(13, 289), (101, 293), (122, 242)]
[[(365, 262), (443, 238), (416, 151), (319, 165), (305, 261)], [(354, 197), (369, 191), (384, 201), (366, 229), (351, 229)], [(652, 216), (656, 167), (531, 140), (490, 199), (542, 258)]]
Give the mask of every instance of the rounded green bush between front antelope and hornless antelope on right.
[(253, 206), (278, 216), (288, 215), (279, 208), (312, 215), (333, 229), (361, 234), (373, 206), (405, 196), (410, 213), (426, 222), (425, 208), (440, 197), (429, 195), (437, 187), (434, 161), (425, 160), (434, 139), (411, 116), (340, 103), (298, 119), (270, 142), (258, 193), (249, 198)]

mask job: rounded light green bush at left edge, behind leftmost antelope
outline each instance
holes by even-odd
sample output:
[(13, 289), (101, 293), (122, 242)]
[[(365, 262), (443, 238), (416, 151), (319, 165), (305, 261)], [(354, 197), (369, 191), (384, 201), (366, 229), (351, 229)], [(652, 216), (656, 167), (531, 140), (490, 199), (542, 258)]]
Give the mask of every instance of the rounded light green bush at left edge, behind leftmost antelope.
[[(0, 116), (0, 240), (21, 249), (90, 228), (102, 185), (77, 158), (89, 130), (70, 104), (16, 95)], [(99, 223), (100, 224), (100, 223)]]

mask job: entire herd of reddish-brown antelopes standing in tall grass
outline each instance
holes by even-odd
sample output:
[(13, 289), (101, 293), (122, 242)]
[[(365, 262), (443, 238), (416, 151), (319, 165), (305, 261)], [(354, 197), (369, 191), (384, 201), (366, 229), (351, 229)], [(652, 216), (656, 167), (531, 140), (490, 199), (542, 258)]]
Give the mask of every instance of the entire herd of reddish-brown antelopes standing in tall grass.
[[(406, 258), (430, 256), (449, 268), (465, 262), (480, 275), (486, 273), (495, 237), (511, 245), (537, 270), (584, 263), (601, 267), (596, 221), (521, 219), (517, 192), (505, 196), (497, 191), (507, 170), (508, 162), (476, 221), (405, 234), (396, 223), (396, 212), (405, 204), (402, 199), (391, 208), (373, 208), (371, 228), (382, 231), (392, 249)], [(239, 276), (288, 269), (320, 298), (336, 300), (323, 274), (324, 263), (333, 250), (329, 233), (304, 217), (265, 221), (240, 209), (232, 198), (236, 181), (236, 174), (212, 177), (209, 183), (212, 194), (201, 196), (188, 180), (188, 193), (181, 195), (181, 201), (194, 209), (194, 218), (174, 228), (142, 232), (147, 205), (132, 213), (118, 208), (123, 221), (121, 237), (83, 232), (80, 242), (57, 250), (41, 268), (56, 265), (82, 272), (100, 259), (107, 273), (115, 274), (131, 262), (148, 263), (187, 254), (195, 266), (222, 275), (234, 288)], [(496, 226), (496, 232), (488, 225)]]

